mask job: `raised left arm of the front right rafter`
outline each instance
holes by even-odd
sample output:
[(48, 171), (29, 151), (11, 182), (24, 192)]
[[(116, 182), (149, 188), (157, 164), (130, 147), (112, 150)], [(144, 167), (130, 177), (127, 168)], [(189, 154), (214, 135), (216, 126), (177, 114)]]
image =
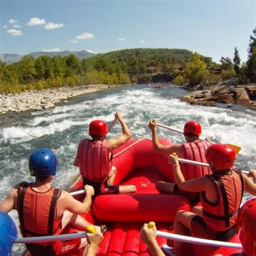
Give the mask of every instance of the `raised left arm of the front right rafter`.
[(154, 122), (154, 120), (150, 120), (149, 129), (152, 132), (152, 142), (153, 142), (154, 152), (157, 152), (160, 154), (166, 154), (167, 156), (169, 156), (169, 154), (176, 152), (180, 158), (184, 158), (184, 153), (183, 153), (183, 149), (181, 148), (181, 144), (176, 144), (172, 146), (164, 146), (160, 144), (157, 136), (157, 124), (156, 122)]

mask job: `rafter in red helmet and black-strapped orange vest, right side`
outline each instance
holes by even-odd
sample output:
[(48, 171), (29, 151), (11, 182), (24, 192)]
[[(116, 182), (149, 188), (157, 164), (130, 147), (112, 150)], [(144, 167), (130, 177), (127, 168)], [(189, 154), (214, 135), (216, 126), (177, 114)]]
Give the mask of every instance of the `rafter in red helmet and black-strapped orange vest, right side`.
[[(176, 154), (171, 154), (169, 163), (173, 166), (174, 177), (180, 190), (199, 192), (201, 206), (197, 214), (184, 210), (176, 213), (173, 232), (205, 239), (229, 241), (235, 234), (237, 214), (244, 190), (256, 196), (256, 171), (250, 170), (254, 183), (233, 168), (236, 153), (231, 146), (213, 144), (205, 152), (212, 174), (185, 180)], [(184, 242), (174, 241), (174, 253), (187, 255)], [(190, 248), (192, 250), (192, 248)]]

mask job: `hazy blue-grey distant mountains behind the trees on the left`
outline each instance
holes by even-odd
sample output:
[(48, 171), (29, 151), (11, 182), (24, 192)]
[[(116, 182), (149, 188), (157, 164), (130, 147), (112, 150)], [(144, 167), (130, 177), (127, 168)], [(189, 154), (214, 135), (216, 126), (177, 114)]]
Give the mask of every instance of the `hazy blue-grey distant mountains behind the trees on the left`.
[[(38, 58), (39, 56), (46, 55), (49, 57), (54, 56), (68, 56), (70, 54), (75, 55), (78, 59), (85, 59), (95, 56), (95, 53), (87, 52), (87, 51), (55, 51), (55, 52), (46, 52), (46, 51), (39, 51), (39, 52), (31, 52), (28, 55), (32, 56), (33, 58)], [(24, 55), (17, 55), (17, 54), (9, 54), (3, 53), (0, 54), (0, 59), (5, 62), (6, 64), (12, 64), (21, 60)]]

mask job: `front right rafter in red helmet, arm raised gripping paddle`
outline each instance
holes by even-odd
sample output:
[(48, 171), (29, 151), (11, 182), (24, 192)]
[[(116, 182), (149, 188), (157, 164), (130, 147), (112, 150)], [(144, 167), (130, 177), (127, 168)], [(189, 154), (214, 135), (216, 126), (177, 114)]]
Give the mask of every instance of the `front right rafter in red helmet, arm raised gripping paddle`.
[[(150, 120), (149, 128), (152, 131), (152, 143), (154, 147), (154, 152), (165, 154), (166, 156), (169, 156), (169, 154), (176, 152), (179, 158), (207, 163), (205, 159), (205, 151), (207, 150), (208, 146), (210, 146), (210, 140), (199, 139), (202, 128), (198, 122), (186, 122), (183, 129), (183, 134), (185, 136), (186, 142), (183, 144), (174, 144), (172, 146), (164, 146), (159, 143), (157, 135), (157, 123), (154, 119)], [(205, 174), (212, 173), (211, 169), (208, 167), (188, 164), (182, 165), (181, 171), (183, 172), (186, 180), (198, 178), (204, 176)], [(183, 194), (194, 203), (197, 203), (197, 201), (199, 200), (199, 195), (197, 193), (180, 191), (177, 184), (174, 183), (158, 181), (156, 183), (156, 188), (160, 193)]]

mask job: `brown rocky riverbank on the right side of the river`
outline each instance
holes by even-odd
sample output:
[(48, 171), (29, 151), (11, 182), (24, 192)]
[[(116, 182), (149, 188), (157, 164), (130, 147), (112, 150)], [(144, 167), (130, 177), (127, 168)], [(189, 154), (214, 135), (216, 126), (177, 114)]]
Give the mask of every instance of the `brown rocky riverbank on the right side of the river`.
[[(186, 88), (187, 89), (187, 88)], [(211, 106), (225, 103), (228, 107), (233, 104), (244, 105), (256, 110), (256, 84), (233, 86), (220, 84), (215, 86), (198, 86), (181, 100), (190, 104)]]

